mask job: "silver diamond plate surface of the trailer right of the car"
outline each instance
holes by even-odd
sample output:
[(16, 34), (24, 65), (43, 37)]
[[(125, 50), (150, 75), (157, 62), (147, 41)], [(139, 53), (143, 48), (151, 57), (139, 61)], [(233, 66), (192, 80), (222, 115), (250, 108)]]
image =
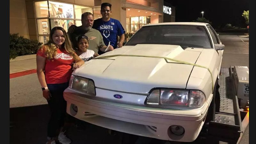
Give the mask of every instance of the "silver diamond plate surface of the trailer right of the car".
[(229, 71), (228, 68), (221, 68), (221, 74), (219, 76), (219, 92), (220, 92), (220, 112), (234, 113), (233, 100), (228, 98), (229, 87)]

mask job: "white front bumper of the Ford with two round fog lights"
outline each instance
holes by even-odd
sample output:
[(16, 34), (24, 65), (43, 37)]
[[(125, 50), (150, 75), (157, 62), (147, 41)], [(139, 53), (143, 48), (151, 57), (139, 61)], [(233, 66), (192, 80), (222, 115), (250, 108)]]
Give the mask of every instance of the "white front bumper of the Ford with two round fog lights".
[[(196, 116), (167, 114), (162, 113), (159, 108), (160, 111), (156, 112), (156, 108), (153, 111), (153, 108), (143, 106), (87, 99), (77, 96), (76, 91), (70, 88), (64, 91), (64, 99), (67, 101), (67, 113), (85, 122), (120, 132), (182, 142), (196, 140), (208, 109), (208, 104), (205, 104), (203, 112)], [(77, 113), (71, 104), (77, 106)], [(186, 113), (188, 111), (186, 110)], [(171, 125), (184, 127), (184, 134), (180, 136), (173, 134), (169, 130)]]

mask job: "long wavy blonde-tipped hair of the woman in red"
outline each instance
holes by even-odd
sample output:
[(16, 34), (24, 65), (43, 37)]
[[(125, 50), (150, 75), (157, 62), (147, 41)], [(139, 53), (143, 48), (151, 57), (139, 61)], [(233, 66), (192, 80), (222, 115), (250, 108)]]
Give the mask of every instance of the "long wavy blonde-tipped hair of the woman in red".
[(57, 54), (57, 45), (52, 40), (52, 35), (54, 34), (54, 32), (56, 30), (61, 30), (63, 32), (63, 34), (64, 34), (65, 42), (61, 45), (62, 48), (64, 48), (68, 52), (68, 54), (70, 56), (72, 56), (74, 60), (76, 60), (77, 56), (75, 54), (74, 49), (72, 48), (72, 44), (71, 44), (71, 42), (69, 40), (68, 34), (65, 31), (65, 29), (61, 28), (61, 27), (54, 27), (54, 28), (52, 28), (52, 30), (50, 32), (50, 40), (49, 40), (49, 42), (47, 44), (42, 45), (42, 49), (45, 50), (45, 57), (47, 57), (48, 60), (51, 60)]

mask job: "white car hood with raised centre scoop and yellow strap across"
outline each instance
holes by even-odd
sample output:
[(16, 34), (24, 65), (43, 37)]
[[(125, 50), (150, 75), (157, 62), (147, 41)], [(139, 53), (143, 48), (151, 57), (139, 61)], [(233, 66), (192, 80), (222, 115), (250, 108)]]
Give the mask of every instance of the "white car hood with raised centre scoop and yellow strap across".
[[(123, 46), (102, 56), (144, 55), (166, 57), (195, 64), (202, 49), (178, 45), (137, 44)], [(98, 57), (98, 58), (99, 58)], [(90, 60), (73, 74), (90, 78), (98, 88), (146, 94), (152, 88), (186, 88), (193, 65), (163, 58), (116, 56)]]

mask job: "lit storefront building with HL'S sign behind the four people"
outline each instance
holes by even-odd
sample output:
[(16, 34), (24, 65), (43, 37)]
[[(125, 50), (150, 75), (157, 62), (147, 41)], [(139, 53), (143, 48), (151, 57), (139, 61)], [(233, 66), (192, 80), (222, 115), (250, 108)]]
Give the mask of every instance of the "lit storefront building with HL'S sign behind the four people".
[(119, 20), (126, 32), (136, 32), (149, 23), (175, 21), (175, 7), (164, 0), (10, 0), (10, 33), (46, 43), (53, 27), (80, 26), (84, 12), (101, 18), (104, 2), (112, 4), (111, 18)]

